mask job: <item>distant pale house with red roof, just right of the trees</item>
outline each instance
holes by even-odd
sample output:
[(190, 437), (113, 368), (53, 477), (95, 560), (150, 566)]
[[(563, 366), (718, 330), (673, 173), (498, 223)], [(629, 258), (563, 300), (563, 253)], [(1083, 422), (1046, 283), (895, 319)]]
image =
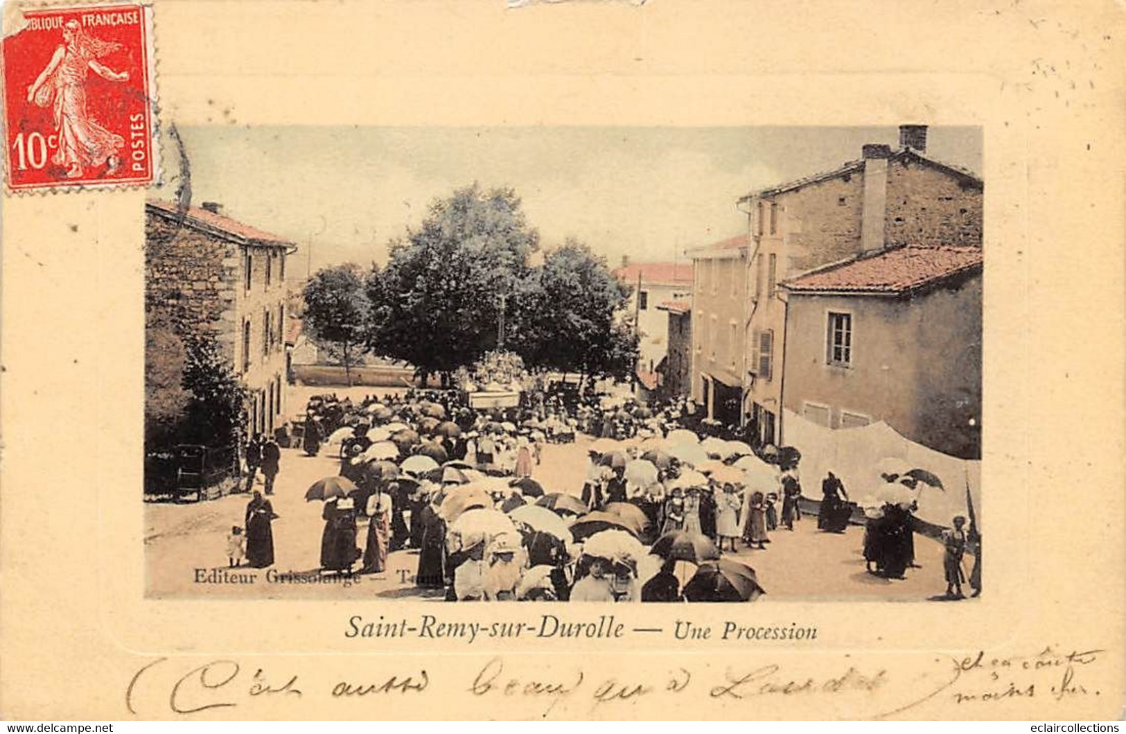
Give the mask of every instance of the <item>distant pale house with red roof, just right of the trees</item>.
[(656, 304), (691, 293), (692, 263), (628, 262), (614, 270), (614, 276), (632, 288), (626, 312), (637, 317), (637, 374), (655, 374), (669, 335), (668, 319)]

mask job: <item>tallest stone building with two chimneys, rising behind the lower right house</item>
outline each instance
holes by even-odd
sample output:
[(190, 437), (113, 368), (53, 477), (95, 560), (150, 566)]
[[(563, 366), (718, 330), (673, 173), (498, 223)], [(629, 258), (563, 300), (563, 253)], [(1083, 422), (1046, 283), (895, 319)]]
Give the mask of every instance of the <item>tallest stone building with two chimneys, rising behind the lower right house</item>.
[[(752, 191), (739, 200), (748, 215), (745, 308), (714, 321), (742, 317), (747, 351), (739, 384), (750, 433), (780, 439), (787, 296), (784, 280), (822, 266), (904, 245), (973, 247), (982, 243), (982, 180), (926, 154), (927, 127), (900, 127), (900, 146), (864, 145), (839, 168)], [(698, 266), (699, 263), (697, 263)], [(823, 337), (821, 329), (817, 331)], [(703, 385), (694, 395), (708, 404)], [(714, 408), (709, 409), (714, 412)]]

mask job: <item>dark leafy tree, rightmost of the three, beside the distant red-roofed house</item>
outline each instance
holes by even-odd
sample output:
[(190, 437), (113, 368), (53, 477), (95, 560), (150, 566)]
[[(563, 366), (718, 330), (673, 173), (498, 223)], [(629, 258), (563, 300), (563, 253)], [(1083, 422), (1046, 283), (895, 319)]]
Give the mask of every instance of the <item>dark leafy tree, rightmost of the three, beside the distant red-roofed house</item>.
[(629, 286), (573, 239), (547, 252), (538, 270), (538, 296), (521, 319), (525, 360), (583, 376), (631, 377), (637, 335), (625, 313)]

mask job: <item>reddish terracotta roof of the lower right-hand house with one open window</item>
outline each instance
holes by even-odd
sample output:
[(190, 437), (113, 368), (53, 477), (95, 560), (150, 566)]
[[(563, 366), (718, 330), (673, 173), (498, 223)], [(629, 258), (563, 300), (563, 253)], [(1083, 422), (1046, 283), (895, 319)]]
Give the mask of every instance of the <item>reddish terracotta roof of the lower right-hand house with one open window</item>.
[(982, 267), (980, 248), (914, 247), (881, 250), (811, 270), (783, 285), (792, 293), (901, 294)]

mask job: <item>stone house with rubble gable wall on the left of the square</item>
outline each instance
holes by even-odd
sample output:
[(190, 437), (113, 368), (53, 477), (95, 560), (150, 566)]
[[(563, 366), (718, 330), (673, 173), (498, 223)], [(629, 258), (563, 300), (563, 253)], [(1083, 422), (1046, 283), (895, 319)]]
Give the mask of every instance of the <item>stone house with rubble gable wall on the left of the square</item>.
[(145, 308), (182, 337), (213, 338), (250, 391), (249, 430), (284, 420), (286, 256), (293, 242), (217, 204), (145, 204)]

